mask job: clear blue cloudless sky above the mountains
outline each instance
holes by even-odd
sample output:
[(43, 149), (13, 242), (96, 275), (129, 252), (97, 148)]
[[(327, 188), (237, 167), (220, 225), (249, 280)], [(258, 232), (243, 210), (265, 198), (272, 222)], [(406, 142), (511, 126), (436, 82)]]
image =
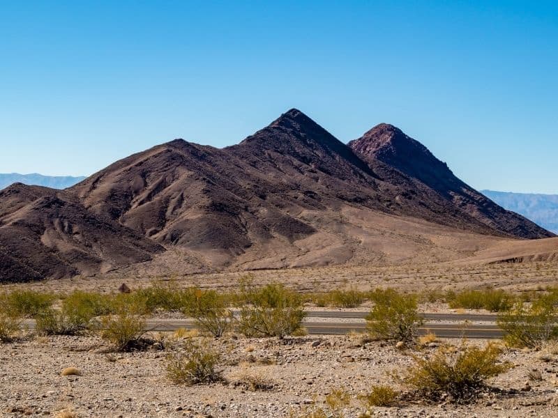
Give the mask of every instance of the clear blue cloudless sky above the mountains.
[(0, 172), (89, 175), (291, 107), (397, 125), (478, 189), (558, 193), (555, 1), (2, 1)]

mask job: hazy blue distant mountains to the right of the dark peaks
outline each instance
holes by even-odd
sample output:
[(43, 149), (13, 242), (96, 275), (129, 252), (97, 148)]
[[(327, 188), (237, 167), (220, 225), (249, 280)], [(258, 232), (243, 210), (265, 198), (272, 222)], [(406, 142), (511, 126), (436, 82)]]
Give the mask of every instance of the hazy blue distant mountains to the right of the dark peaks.
[(558, 194), (494, 192), (483, 194), (503, 208), (518, 212), (543, 228), (558, 233)]

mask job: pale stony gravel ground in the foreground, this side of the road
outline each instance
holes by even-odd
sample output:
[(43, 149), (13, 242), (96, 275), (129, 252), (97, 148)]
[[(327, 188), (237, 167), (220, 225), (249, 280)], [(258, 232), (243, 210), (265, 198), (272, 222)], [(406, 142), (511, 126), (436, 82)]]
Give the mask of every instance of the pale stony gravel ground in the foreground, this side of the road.
[[(183, 339), (163, 338), (167, 350)], [(319, 345), (316, 341), (319, 341)], [(458, 343), (459, 341), (453, 341)], [(483, 343), (475, 341), (474, 343)], [(356, 336), (213, 341), (223, 353), (229, 382), (185, 387), (165, 375), (165, 351), (111, 353), (96, 336), (29, 336), (1, 346), (0, 416), (51, 415), (64, 408), (76, 417), (289, 417), (305, 404), (322, 402), (331, 389), (343, 388), (354, 399), (346, 417), (363, 411), (356, 396), (370, 385), (393, 384), (391, 373), (412, 364), (409, 354), (382, 343), (359, 344)], [(425, 353), (434, 348), (426, 348)], [(384, 417), (556, 417), (558, 357), (509, 350), (515, 367), (493, 380), (513, 394), (491, 394), (474, 405), (405, 403), (375, 408)], [(81, 376), (61, 376), (74, 366)], [(541, 380), (526, 382), (532, 369)], [(247, 376), (273, 385), (251, 392), (238, 385)], [(235, 384), (236, 382), (236, 384)], [(395, 385), (397, 387), (397, 385)], [(296, 416), (296, 415), (295, 415)]]

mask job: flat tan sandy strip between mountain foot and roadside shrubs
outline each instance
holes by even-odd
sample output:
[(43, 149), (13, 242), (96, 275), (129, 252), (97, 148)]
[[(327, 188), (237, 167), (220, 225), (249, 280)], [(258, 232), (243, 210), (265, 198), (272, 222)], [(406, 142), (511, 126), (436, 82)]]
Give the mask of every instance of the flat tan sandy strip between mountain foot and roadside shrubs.
[(400, 291), (445, 291), (462, 288), (494, 287), (511, 291), (538, 291), (558, 286), (558, 261), (456, 265), (428, 263), (392, 267), (323, 267), (285, 270), (254, 270), (204, 274), (173, 274), (171, 276), (135, 276), (105, 274), (96, 277), (75, 277), (40, 281), (31, 284), (3, 285), (3, 288), (26, 287), (40, 291), (71, 291), (73, 289), (116, 292), (122, 283), (130, 288), (149, 286), (154, 281), (172, 281), (174, 286), (199, 286), (223, 291), (234, 290), (239, 279), (249, 274), (257, 284), (280, 282), (303, 292), (328, 291), (355, 286), (361, 290), (393, 287)]

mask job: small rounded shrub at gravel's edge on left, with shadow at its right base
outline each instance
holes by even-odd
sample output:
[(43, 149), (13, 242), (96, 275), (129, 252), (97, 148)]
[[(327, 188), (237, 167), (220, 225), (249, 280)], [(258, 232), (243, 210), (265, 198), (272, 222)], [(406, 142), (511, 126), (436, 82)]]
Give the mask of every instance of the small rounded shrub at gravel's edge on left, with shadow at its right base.
[(141, 316), (121, 311), (101, 317), (97, 326), (102, 339), (112, 343), (118, 351), (128, 351), (141, 339), (145, 325)]

